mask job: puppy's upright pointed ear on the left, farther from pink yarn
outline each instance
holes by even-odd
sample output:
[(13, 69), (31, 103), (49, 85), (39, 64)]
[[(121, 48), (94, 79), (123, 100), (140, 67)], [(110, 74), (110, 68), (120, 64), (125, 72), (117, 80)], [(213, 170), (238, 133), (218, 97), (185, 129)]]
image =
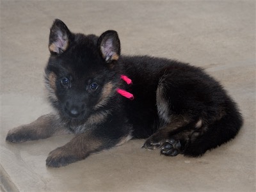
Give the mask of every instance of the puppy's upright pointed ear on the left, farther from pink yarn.
[(49, 36), (49, 51), (51, 54), (61, 54), (66, 51), (70, 44), (70, 31), (60, 20), (54, 20)]

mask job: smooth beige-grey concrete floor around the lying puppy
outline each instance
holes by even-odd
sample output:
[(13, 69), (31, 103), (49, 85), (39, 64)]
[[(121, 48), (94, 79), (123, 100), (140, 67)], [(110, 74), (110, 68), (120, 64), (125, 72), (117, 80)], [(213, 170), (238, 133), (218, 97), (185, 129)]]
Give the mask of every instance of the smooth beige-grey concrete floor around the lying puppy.
[[(55, 18), (74, 32), (115, 29), (123, 54), (204, 67), (239, 104), (243, 129), (200, 158), (160, 156), (132, 140), (47, 168), (47, 154), (72, 136), (19, 145), (5, 137), (51, 111), (43, 76)], [(255, 191), (255, 127), (255, 1), (1, 1), (0, 173), (6, 191)]]

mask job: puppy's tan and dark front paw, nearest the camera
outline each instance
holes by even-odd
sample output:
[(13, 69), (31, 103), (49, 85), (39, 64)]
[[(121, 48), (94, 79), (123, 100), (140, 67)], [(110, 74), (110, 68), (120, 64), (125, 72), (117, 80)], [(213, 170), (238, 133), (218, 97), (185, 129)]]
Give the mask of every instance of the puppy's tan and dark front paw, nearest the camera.
[(81, 159), (79, 159), (75, 154), (67, 150), (67, 148), (59, 147), (50, 152), (49, 156), (46, 159), (46, 165), (49, 167), (61, 167), (79, 160)]

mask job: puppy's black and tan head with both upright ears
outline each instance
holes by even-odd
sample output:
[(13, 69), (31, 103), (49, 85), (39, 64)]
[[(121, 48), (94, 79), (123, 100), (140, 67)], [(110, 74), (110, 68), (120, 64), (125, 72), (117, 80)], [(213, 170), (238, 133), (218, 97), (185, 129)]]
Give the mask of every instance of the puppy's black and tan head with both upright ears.
[(86, 120), (106, 108), (116, 94), (120, 42), (115, 31), (95, 35), (71, 33), (55, 20), (49, 38), (51, 56), (45, 68), (49, 99), (60, 115)]

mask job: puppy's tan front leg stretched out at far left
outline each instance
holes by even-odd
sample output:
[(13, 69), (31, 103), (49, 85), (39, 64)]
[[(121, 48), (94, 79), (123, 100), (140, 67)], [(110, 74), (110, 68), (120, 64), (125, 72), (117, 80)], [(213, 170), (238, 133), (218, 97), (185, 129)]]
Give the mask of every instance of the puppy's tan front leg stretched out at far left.
[(39, 140), (49, 138), (57, 134), (67, 134), (70, 131), (65, 128), (57, 115), (52, 113), (40, 116), (35, 122), (28, 125), (21, 125), (10, 130), (6, 136), (6, 141), (11, 143), (22, 143), (29, 140)]

